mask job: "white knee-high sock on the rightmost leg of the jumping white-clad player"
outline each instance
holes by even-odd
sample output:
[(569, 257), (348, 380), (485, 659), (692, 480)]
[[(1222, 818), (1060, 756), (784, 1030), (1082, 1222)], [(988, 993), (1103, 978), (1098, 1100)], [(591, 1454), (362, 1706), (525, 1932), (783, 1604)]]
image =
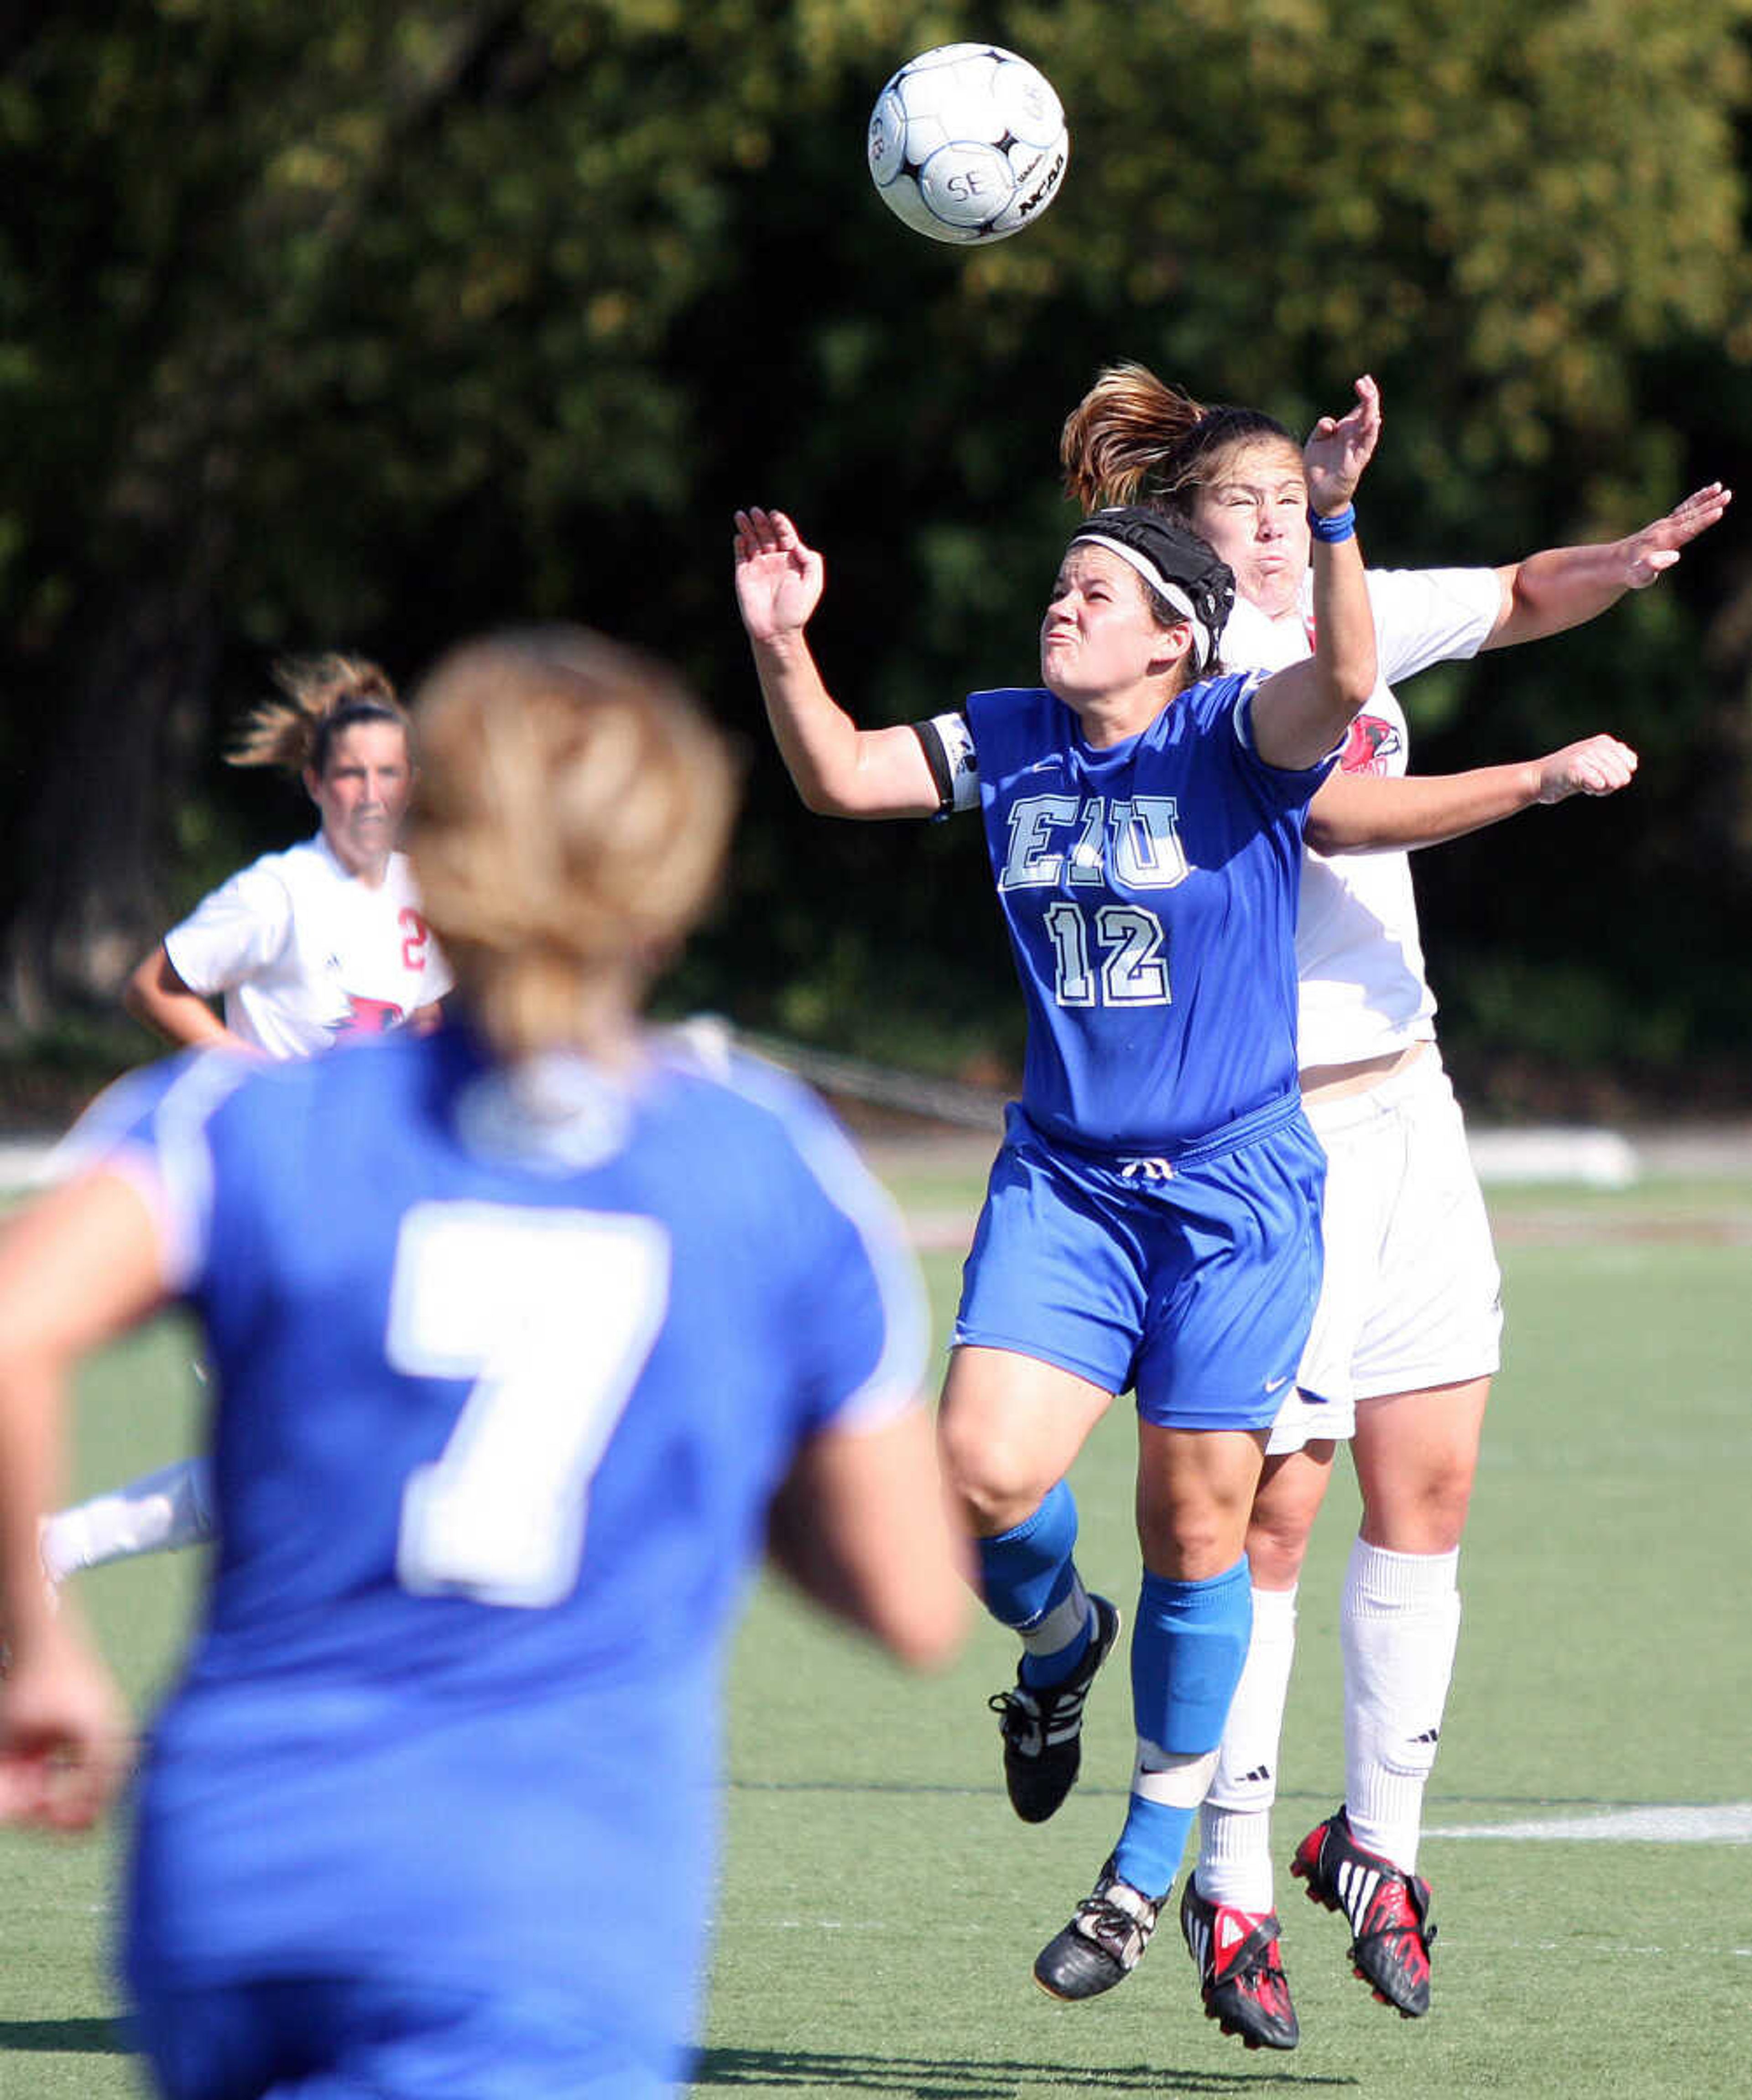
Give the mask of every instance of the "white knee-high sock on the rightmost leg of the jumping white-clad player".
[(1460, 1642), (1460, 1554), (1351, 1548), (1344, 1648), (1344, 1810), (1357, 1844), (1414, 1873), (1424, 1787)]

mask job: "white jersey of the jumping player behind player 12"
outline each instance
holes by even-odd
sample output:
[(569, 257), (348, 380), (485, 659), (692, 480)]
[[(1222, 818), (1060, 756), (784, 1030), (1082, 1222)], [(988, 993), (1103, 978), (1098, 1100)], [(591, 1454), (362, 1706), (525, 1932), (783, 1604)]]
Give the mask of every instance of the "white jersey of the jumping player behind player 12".
[[(1351, 724), (1347, 773), (1401, 775), (1410, 731), (1393, 680), (1428, 664), (1473, 657), (1502, 611), (1496, 569), (1370, 569), (1380, 676)], [(1313, 655), (1311, 582), (1302, 605), (1267, 620), (1244, 598), (1223, 630), (1231, 670), (1284, 670)], [(1302, 853), (1296, 914), (1298, 1063), (1361, 1065), (1435, 1037), (1435, 993), (1424, 976), (1418, 905), (1405, 853)]]

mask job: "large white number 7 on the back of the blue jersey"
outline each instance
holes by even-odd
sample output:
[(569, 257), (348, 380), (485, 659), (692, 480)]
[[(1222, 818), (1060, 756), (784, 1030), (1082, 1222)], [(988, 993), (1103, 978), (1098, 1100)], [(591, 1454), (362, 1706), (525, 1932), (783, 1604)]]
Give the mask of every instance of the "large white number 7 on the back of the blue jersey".
[(443, 1453), (403, 1489), (403, 1588), (525, 1606), (571, 1590), (590, 1476), (668, 1287), (668, 1233), (651, 1218), (504, 1203), (408, 1212), (384, 1352), (397, 1371), (473, 1390)]

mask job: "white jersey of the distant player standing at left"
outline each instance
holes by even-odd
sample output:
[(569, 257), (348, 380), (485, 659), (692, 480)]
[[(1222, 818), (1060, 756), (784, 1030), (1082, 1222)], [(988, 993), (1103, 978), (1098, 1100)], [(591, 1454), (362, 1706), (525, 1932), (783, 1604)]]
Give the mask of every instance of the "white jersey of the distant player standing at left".
[(317, 832), (239, 869), (164, 937), (191, 991), (225, 995), (225, 1025), (269, 1056), (307, 1056), (338, 1035), (376, 1035), (450, 991), (408, 857), (378, 888)]

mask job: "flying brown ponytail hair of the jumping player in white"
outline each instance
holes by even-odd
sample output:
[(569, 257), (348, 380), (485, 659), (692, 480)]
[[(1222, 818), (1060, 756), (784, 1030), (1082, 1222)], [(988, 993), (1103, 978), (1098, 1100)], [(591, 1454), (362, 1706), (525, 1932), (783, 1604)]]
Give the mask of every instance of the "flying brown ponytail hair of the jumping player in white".
[(1065, 418), (1059, 464), (1084, 510), (1155, 504), (1189, 517), (1193, 491), (1244, 445), (1296, 439), (1256, 407), (1206, 407), (1147, 365), (1107, 365)]

